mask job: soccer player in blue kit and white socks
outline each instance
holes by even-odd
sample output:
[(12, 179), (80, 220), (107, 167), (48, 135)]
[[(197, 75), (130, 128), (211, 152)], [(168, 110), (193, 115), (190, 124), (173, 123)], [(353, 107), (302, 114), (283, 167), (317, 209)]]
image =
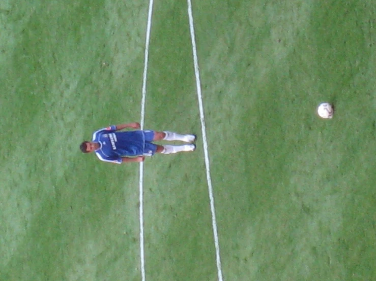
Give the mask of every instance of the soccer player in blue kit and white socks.
[[(133, 131), (120, 131), (125, 128), (135, 129)], [(142, 162), (145, 156), (152, 156), (155, 153), (171, 154), (182, 151), (194, 151), (196, 141), (193, 134), (178, 134), (168, 131), (158, 132), (151, 130), (139, 130), (137, 122), (112, 125), (93, 133), (91, 142), (82, 142), (80, 150), (83, 153), (95, 152), (98, 158), (105, 162), (127, 163)], [(180, 146), (156, 145), (154, 141), (181, 141), (189, 143)]]

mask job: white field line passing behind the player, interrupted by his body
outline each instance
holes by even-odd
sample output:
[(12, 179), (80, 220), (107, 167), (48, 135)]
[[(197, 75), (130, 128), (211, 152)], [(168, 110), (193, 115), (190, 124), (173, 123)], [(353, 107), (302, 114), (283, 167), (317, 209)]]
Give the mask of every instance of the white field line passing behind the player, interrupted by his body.
[[(145, 120), (145, 100), (146, 100), (146, 81), (148, 78), (148, 62), (149, 62), (149, 45), (150, 45), (150, 30), (152, 27), (152, 14), (153, 14), (153, 0), (149, 2), (148, 25), (146, 30), (146, 43), (145, 43), (145, 59), (143, 67), (143, 81), (142, 81), (142, 99), (141, 99), (141, 129)], [(140, 222), (140, 262), (141, 262), (141, 279), (145, 281), (145, 258), (144, 258), (144, 243), (143, 243), (143, 162), (140, 162), (139, 174), (139, 222)]]

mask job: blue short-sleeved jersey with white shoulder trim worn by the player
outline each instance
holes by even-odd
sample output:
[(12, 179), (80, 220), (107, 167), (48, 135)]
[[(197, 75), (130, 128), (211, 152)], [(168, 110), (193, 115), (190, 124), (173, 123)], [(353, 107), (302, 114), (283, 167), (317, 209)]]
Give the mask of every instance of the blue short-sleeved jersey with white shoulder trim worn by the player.
[(122, 163), (122, 157), (144, 154), (144, 131), (116, 131), (116, 126), (109, 126), (93, 133), (93, 142), (100, 148), (95, 154), (102, 161)]

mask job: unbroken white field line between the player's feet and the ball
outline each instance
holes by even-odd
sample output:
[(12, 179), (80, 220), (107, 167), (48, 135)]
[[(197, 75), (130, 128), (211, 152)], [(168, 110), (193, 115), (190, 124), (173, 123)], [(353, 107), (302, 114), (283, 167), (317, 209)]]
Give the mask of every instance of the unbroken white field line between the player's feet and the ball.
[(191, 31), (191, 41), (192, 41), (192, 51), (193, 51), (194, 73), (195, 73), (195, 76), (196, 76), (196, 88), (197, 88), (198, 106), (199, 106), (199, 111), (200, 111), (201, 131), (202, 131), (202, 134), (203, 134), (203, 142), (204, 142), (206, 177), (207, 177), (207, 181), (208, 181), (210, 209), (211, 209), (211, 213), (212, 213), (212, 225), (213, 225), (214, 244), (215, 244), (216, 260), (217, 260), (218, 280), (222, 281), (223, 280), (222, 267), (221, 267), (221, 258), (220, 258), (220, 254), (219, 254), (219, 239), (218, 239), (217, 222), (216, 222), (216, 217), (215, 217), (213, 187), (212, 187), (212, 180), (211, 180), (211, 177), (210, 177), (210, 162), (209, 162), (208, 142), (207, 142), (207, 138), (206, 138), (206, 126), (205, 126), (203, 96), (201, 95), (201, 82), (200, 82), (200, 73), (199, 73), (199, 68), (198, 68), (196, 39), (195, 39), (195, 36), (194, 36), (192, 3), (191, 3), (191, 0), (187, 0), (187, 1), (188, 1), (189, 28), (190, 28), (190, 31)]

